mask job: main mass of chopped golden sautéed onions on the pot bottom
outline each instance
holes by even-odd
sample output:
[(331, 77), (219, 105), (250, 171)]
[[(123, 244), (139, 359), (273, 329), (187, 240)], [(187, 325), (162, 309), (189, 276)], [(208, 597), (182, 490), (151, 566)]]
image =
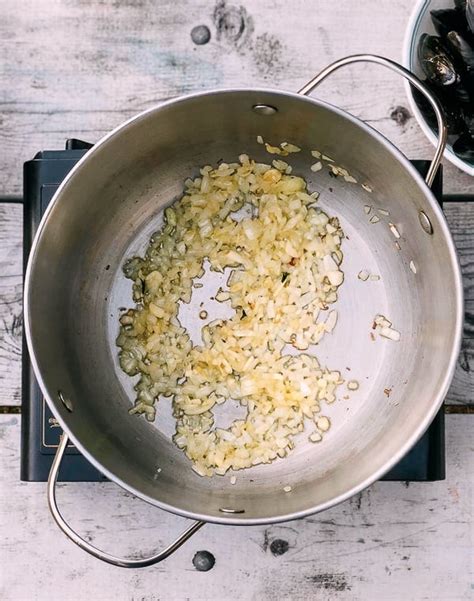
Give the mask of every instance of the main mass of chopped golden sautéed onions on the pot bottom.
[[(305, 422), (309, 440), (321, 440), (329, 427), (321, 405), (343, 382), (304, 352), (336, 325), (329, 307), (344, 279), (339, 221), (286, 166), (239, 160), (186, 180), (145, 256), (124, 267), (137, 303), (117, 339), (122, 369), (139, 376), (131, 412), (152, 421), (158, 397), (171, 397), (174, 441), (206, 476), (284, 457)], [(193, 346), (178, 310), (205, 261), (231, 269), (215, 298), (234, 314), (205, 325)], [(227, 399), (246, 407), (246, 419), (217, 428), (212, 409)]]

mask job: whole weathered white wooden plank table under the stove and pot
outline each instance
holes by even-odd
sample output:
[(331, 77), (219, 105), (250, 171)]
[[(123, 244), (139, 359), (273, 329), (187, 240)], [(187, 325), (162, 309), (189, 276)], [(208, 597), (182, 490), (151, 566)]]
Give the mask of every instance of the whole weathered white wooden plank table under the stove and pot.
[[(217, 86), (296, 90), (355, 52), (399, 60), (413, 4), (242, 1), (244, 8), (216, 0), (2, 0), (0, 194), (21, 195), (22, 163), (38, 150), (62, 148), (67, 137), (94, 142), (166, 98)], [(193, 43), (197, 25), (209, 27), (209, 43)], [(409, 157), (432, 155), (391, 73), (353, 67), (319, 94)], [(473, 188), (445, 165), (447, 192)], [(19, 481), (22, 217), (19, 206), (0, 204), (0, 599), (472, 599), (474, 206), (452, 204), (447, 217), (468, 318), (447, 399), (447, 479), (377, 483), (330, 511), (279, 526), (206, 526), (164, 563), (125, 571), (67, 541), (49, 517), (45, 485)], [(73, 525), (116, 553), (149, 552), (183, 528), (180, 518), (113, 484), (61, 485), (59, 496)], [(276, 540), (288, 543), (282, 555)], [(193, 567), (199, 550), (216, 557), (212, 570)]]

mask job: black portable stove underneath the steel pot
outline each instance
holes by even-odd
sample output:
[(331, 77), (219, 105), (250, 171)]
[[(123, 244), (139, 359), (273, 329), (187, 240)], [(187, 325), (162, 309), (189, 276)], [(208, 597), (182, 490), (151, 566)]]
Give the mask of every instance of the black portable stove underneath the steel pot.
[[(66, 150), (39, 152), (33, 160), (25, 163), (25, 267), (41, 216), (61, 181), (90, 147), (90, 144), (80, 140), (68, 140)], [(422, 174), (426, 173), (429, 166), (428, 161), (413, 161), (413, 164)], [(441, 172), (436, 177), (433, 192), (442, 205)], [(61, 431), (61, 427), (43, 398), (28, 357), (26, 343), (23, 341), (22, 480), (47, 480)], [(382, 480), (434, 481), (443, 480), (444, 477), (444, 413), (441, 409), (424, 436)], [(62, 462), (59, 480), (96, 482), (106, 478), (73, 445), (70, 445)]]

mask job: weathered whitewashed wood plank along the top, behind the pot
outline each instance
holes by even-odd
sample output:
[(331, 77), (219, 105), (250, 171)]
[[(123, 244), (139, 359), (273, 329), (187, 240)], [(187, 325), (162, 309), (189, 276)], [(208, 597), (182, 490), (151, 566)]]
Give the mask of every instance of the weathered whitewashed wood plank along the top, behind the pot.
[[(227, 3), (4, 0), (0, 20), (0, 181), (21, 189), (21, 163), (70, 136), (95, 142), (135, 112), (179, 94), (212, 87), (297, 90), (345, 54), (401, 58), (411, 0), (360, 2), (335, 10), (331, 0)], [(240, 32), (242, 18), (243, 32)], [(193, 44), (195, 25), (211, 41)], [(352, 32), (348, 35), (348, 32)], [(54, 44), (51, 41), (54, 40)], [(380, 128), (410, 157), (433, 149), (409, 112), (402, 82), (381, 67), (354, 66), (318, 94)], [(470, 178), (447, 167), (449, 191)]]

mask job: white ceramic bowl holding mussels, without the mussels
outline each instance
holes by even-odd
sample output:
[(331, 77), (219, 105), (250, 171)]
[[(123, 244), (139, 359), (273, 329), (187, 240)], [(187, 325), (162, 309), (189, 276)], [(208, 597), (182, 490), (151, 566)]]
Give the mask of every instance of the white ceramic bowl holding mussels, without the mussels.
[[(409, 69), (415, 75), (418, 75), (421, 79), (424, 79), (423, 72), (420, 68), (418, 58), (417, 58), (417, 48), (420, 37), (423, 33), (429, 33), (432, 35), (437, 35), (435, 28), (431, 22), (430, 11), (438, 10), (440, 8), (454, 8), (453, 0), (419, 0), (413, 13), (411, 14), (408, 28), (405, 36), (405, 43), (403, 48), (403, 62), (405, 67)], [(408, 94), (408, 99), (410, 101), (410, 106), (415, 115), (418, 123), (420, 124), (422, 130), (425, 132), (426, 136), (430, 140), (433, 145), (436, 145), (436, 134), (433, 129), (426, 122), (425, 117), (422, 112), (418, 108), (418, 105), (415, 102), (413, 97), (413, 92), (408, 84), (405, 83), (406, 91)], [(458, 156), (456, 156), (453, 152), (451, 144), (448, 143), (445, 151), (445, 157), (462, 169), (469, 175), (474, 176), (474, 166), (466, 163), (461, 160)]]

